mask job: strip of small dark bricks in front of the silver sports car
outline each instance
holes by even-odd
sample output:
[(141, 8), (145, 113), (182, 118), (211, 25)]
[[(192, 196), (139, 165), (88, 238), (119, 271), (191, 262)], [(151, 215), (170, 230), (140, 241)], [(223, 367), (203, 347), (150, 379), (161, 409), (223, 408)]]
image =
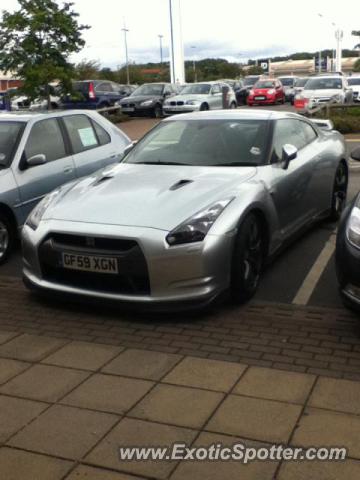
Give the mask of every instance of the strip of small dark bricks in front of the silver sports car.
[(2, 277), (1, 331), (360, 380), (358, 319), (345, 309), (250, 303), (191, 315), (126, 314), (37, 299), (21, 281)]

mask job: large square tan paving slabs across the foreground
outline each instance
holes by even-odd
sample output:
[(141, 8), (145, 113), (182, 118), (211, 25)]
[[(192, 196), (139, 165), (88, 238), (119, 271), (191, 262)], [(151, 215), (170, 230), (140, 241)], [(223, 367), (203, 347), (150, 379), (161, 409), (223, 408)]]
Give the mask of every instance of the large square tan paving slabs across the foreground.
[[(358, 480), (359, 434), (357, 381), (0, 333), (4, 480)], [(119, 447), (174, 442), (341, 446), (347, 459), (243, 465), (119, 458)]]

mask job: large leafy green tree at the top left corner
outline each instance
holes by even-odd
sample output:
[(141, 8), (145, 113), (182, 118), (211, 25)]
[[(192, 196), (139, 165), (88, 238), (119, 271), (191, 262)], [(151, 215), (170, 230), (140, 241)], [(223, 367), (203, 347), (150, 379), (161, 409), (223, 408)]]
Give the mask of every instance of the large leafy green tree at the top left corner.
[(72, 3), (18, 0), (20, 9), (3, 11), (0, 22), (0, 70), (12, 71), (24, 82), (30, 99), (45, 97), (50, 107), (50, 82), (69, 88), (73, 66), (68, 58), (84, 46), (78, 14)]

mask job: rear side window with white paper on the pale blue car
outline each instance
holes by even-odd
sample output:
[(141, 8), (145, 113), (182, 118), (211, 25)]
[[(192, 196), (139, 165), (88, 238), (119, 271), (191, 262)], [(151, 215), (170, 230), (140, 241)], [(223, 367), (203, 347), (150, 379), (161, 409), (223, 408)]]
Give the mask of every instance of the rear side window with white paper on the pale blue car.
[(99, 146), (95, 130), (86, 115), (63, 117), (74, 153), (85, 152)]

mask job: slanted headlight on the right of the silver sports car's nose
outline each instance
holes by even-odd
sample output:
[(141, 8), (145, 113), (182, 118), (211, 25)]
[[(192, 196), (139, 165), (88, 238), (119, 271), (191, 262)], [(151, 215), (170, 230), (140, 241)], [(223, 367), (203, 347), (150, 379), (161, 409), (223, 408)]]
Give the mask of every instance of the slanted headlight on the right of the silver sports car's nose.
[(201, 242), (219, 215), (233, 199), (234, 197), (220, 200), (188, 218), (167, 235), (167, 243), (173, 246)]

